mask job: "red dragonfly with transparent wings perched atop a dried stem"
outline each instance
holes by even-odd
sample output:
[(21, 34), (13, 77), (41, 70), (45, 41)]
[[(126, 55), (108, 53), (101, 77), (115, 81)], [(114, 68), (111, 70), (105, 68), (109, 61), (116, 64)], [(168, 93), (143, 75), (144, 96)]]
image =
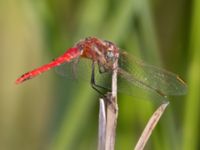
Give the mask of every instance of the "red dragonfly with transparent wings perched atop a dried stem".
[[(113, 69), (117, 69), (119, 76), (127, 80), (128, 83), (145, 88), (161, 97), (186, 93), (186, 84), (176, 74), (145, 64), (135, 58), (129, 58), (129, 55), (126, 52), (120, 52), (120, 49), (114, 43), (96, 37), (88, 37), (79, 41), (50, 63), (23, 74), (16, 80), (16, 84), (31, 79), (63, 63), (75, 60), (73, 63), (76, 65), (79, 63), (80, 58), (92, 60), (91, 85), (92, 88), (101, 94), (102, 92), (98, 88), (106, 88), (95, 83), (95, 64), (98, 65), (100, 73), (111, 72)], [(122, 59), (122, 64), (125, 64), (125, 66), (131, 65), (132, 69), (128, 70), (126, 67), (122, 69), (120, 65), (117, 68), (113, 68), (115, 60), (121, 60), (120, 58), (124, 58)]]

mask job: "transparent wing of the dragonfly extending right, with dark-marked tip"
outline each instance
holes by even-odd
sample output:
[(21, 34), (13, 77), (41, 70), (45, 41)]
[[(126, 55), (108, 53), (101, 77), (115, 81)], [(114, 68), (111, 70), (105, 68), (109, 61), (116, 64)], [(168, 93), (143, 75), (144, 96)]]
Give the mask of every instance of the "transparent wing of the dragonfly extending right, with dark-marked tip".
[(186, 94), (187, 86), (179, 76), (148, 65), (128, 54), (122, 54), (119, 75), (129, 83), (156, 92), (161, 96)]

